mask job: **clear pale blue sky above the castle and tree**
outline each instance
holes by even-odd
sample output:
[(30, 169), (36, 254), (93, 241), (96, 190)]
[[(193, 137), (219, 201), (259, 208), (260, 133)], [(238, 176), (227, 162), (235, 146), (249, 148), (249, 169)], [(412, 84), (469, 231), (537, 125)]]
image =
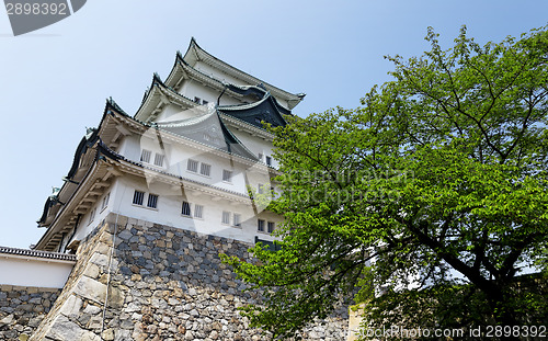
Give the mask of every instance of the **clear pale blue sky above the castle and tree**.
[(355, 107), (389, 79), (385, 55), (450, 46), (461, 25), (479, 43), (548, 23), (548, 1), (88, 0), (70, 18), (14, 37), (0, 10), (0, 246), (27, 248), (105, 99), (137, 110), (152, 73), (165, 78), (194, 36), (210, 54), (289, 92), (294, 113)]

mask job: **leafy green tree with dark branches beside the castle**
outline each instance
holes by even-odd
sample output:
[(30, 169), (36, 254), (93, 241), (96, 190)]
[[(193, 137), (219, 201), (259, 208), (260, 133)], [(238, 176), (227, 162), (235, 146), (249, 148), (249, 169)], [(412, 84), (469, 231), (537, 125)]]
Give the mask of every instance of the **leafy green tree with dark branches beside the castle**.
[(293, 336), (355, 293), (368, 327), (548, 319), (548, 32), (426, 39), (420, 58), (388, 57), (393, 80), (361, 107), (273, 129), (281, 250), (226, 259), (265, 292), (244, 308), (254, 326)]

